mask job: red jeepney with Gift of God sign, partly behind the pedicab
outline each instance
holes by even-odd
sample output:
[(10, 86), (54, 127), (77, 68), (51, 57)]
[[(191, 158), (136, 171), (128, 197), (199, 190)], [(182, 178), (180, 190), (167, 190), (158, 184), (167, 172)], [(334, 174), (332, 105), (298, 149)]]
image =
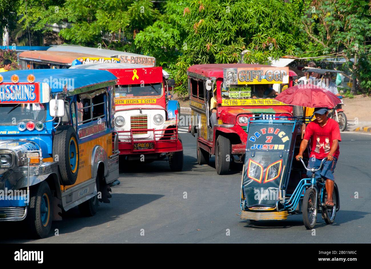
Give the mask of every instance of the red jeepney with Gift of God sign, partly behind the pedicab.
[[(243, 163), (250, 117), (274, 120), (280, 116), (303, 116), (302, 107), (274, 99), (273, 89), (280, 93), (283, 84), (293, 85), (296, 73), (288, 67), (193, 65), (187, 75), (192, 118), (198, 119), (189, 124), (189, 131), (197, 137), (197, 162), (208, 164), (210, 155), (215, 155), (215, 167), (220, 175), (228, 173), (232, 161)], [(266, 96), (266, 92), (272, 95)], [(214, 126), (210, 121), (211, 98), (217, 102)], [(270, 146), (276, 145), (257, 145), (259, 148)]]

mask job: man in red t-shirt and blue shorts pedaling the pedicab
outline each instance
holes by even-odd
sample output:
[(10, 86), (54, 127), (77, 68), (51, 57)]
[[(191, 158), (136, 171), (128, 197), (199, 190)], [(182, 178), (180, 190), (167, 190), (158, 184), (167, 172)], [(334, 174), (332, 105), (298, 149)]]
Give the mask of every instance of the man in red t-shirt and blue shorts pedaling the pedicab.
[[(308, 141), (312, 141), (311, 154), (309, 158), (308, 168), (319, 168), (322, 159), (327, 157), (322, 169), (316, 171), (316, 178), (324, 178), (326, 180), (327, 192), (327, 207), (334, 207), (332, 193), (334, 191), (334, 170), (339, 157), (339, 144), (341, 141), (339, 124), (331, 118), (328, 118), (327, 108), (315, 108), (315, 120), (309, 122), (305, 128), (304, 138), (300, 144), (299, 154), (296, 160), (303, 157), (303, 152), (308, 146)], [(311, 172), (308, 171), (308, 177), (311, 177)]]

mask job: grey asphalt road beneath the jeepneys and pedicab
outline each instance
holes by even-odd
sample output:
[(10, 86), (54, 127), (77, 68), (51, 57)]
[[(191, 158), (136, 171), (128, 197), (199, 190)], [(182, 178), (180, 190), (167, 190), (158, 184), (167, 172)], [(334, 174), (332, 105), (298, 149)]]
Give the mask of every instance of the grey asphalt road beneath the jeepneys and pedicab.
[[(53, 222), (46, 239), (25, 239), (19, 223), (0, 223), (6, 243), (370, 243), (371, 135), (342, 133), (336, 165), (341, 208), (335, 223), (318, 214), (315, 236), (302, 216), (283, 221), (249, 223), (240, 220), (242, 167), (219, 176), (210, 165), (198, 165), (196, 140), (182, 133), (184, 169), (171, 173), (167, 161), (128, 165), (110, 204), (100, 204), (94, 217), (77, 208)], [(184, 193), (187, 199), (184, 199)], [(354, 199), (358, 192), (358, 199)], [(55, 236), (58, 229), (59, 236)], [(143, 229), (143, 230), (142, 230)], [(227, 229), (230, 235), (227, 236)], [(6, 233), (4, 232), (6, 231)], [(22, 232), (23, 231), (23, 232)], [(144, 235), (141, 235), (141, 233)]]

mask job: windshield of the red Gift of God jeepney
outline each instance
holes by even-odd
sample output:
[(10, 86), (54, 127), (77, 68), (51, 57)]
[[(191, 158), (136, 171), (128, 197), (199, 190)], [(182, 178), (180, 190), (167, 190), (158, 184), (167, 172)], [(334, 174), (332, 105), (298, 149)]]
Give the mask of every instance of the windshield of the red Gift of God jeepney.
[(221, 97), (223, 99), (251, 99), (251, 98), (269, 98), (274, 99), (280, 91), (280, 84), (249, 84), (249, 85), (229, 85), (221, 84)]

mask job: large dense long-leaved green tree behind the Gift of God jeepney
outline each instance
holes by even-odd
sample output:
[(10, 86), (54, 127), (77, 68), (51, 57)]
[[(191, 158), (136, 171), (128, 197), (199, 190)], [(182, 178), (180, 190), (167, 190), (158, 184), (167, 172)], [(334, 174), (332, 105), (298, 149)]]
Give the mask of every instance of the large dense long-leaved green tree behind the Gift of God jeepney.
[(293, 7), (279, 0), (168, 1), (164, 15), (139, 33), (135, 44), (160, 59), (170, 54), (171, 60), (178, 53), (177, 91), (186, 94), (190, 65), (237, 63), (244, 50), (246, 63), (266, 63), (270, 57), (294, 54), (296, 35), (301, 34)]

